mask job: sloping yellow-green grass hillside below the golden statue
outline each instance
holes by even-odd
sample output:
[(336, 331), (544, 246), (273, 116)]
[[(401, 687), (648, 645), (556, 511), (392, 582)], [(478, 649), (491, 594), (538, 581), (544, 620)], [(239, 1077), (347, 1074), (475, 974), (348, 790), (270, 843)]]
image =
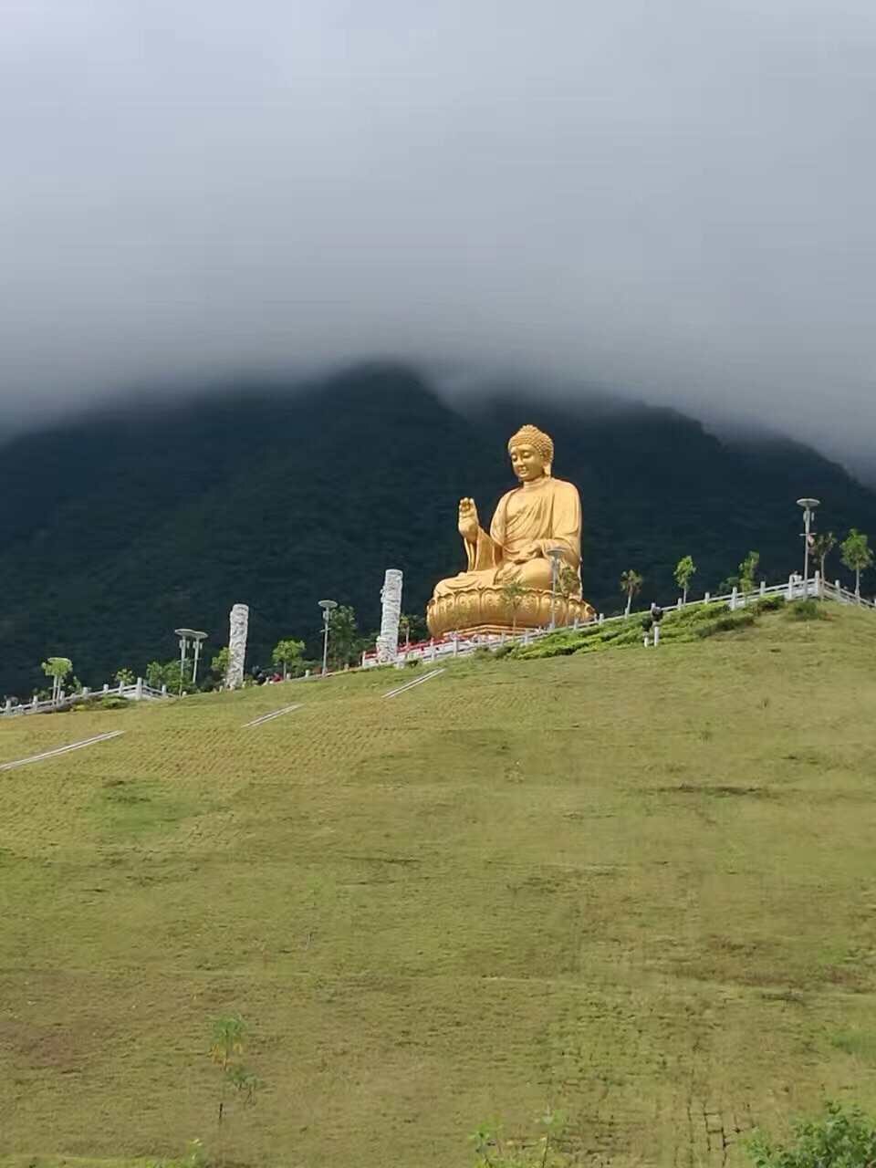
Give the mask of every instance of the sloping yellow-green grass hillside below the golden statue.
[[(876, 619), (0, 723), (0, 1164), (743, 1163), (876, 1106)], [(244, 722), (300, 701), (253, 729)], [(81, 1159), (76, 1159), (81, 1157)]]

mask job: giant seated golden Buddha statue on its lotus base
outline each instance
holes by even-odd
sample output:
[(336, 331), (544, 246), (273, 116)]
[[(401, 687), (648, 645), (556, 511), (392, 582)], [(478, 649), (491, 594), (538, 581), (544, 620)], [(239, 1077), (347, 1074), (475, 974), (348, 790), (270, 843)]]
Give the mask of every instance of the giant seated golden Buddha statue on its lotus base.
[[(499, 500), (489, 534), (474, 500), (460, 500), (468, 569), (436, 586), (426, 609), (433, 637), (536, 628), (548, 625), (551, 613), (557, 625), (596, 614), (582, 599), (580, 496), (571, 482), (551, 477), (552, 440), (523, 426), (508, 453), (520, 486)], [(517, 589), (507, 588), (513, 580)]]

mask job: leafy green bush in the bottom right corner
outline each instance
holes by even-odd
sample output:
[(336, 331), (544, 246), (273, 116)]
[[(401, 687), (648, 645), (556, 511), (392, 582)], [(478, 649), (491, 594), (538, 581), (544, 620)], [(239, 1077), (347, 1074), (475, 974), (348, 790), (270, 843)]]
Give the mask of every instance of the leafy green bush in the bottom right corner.
[(860, 1107), (828, 1103), (825, 1115), (798, 1120), (788, 1143), (772, 1143), (759, 1132), (746, 1141), (757, 1168), (869, 1168), (876, 1164), (876, 1121)]

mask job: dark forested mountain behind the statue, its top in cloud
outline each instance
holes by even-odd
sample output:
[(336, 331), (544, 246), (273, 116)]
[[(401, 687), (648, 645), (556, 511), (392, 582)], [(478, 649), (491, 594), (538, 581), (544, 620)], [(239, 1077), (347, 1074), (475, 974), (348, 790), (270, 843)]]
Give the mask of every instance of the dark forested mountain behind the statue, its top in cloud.
[[(876, 495), (792, 443), (731, 446), (670, 410), (494, 396), (459, 412), (415, 373), (368, 367), (306, 389), (256, 384), (29, 433), (0, 447), (0, 693), (26, 695), (39, 662), (70, 656), (86, 684), (176, 652), (174, 627), (228, 637), (250, 605), (250, 659), (280, 637), (317, 646), (317, 602), (378, 621), (385, 568), (404, 607), (463, 566), (460, 495), (486, 522), (513, 485), (508, 437), (524, 422), (556, 443), (555, 472), (584, 503), (584, 590), (621, 603), (626, 568), (645, 600), (672, 602), (690, 552), (715, 590), (749, 549), (771, 579), (800, 562), (795, 500), (819, 521), (876, 533)], [(841, 575), (839, 562), (832, 575)]]

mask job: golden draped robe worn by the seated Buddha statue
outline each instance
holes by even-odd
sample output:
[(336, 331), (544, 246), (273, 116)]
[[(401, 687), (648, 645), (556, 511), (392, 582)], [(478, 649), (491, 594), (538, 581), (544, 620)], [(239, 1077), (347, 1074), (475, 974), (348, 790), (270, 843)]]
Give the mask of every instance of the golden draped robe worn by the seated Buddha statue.
[[(571, 482), (545, 477), (500, 499), (489, 535), (479, 529), (477, 540), (465, 541), (468, 570), (442, 580), (434, 595), (501, 588), (513, 579), (524, 588), (549, 590), (552, 569), (548, 550), (552, 548), (562, 549), (564, 562), (579, 571), (580, 496)], [(515, 563), (517, 558), (523, 562)]]

